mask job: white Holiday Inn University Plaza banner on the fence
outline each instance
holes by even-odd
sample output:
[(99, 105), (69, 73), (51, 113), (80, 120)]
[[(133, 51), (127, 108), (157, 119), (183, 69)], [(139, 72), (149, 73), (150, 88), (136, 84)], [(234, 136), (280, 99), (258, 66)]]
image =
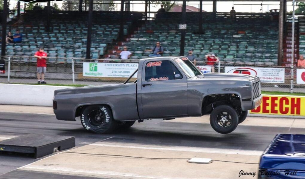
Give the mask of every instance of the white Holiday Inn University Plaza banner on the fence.
[[(138, 63), (83, 63), (83, 76), (129, 77), (138, 69)], [(137, 73), (134, 75), (136, 77)]]

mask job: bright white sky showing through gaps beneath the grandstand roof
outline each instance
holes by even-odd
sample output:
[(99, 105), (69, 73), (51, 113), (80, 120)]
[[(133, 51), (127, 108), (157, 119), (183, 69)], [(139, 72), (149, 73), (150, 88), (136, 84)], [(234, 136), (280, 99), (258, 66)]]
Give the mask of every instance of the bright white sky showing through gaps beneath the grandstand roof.
[[(59, 7), (62, 6), (63, 1), (56, 1)], [(115, 7), (117, 9), (120, 8), (120, 1), (114, 1), (117, 3)], [(178, 4), (182, 4), (182, 2), (177, 2)], [(261, 6), (260, 4), (263, 4)], [(10, 9), (16, 7), (17, 1), (10, 0)], [(53, 3), (51, 2), (51, 5)], [(252, 5), (251, 5), (252, 4)], [(21, 3), (23, 6), (23, 3)], [(41, 5), (46, 5), (46, 3), (41, 3)], [(187, 5), (192, 5), (194, 7), (199, 8), (199, 2), (187, 2)], [(279, 2), (217, 2), (217, 12), (230, 12), (231, 7), (234, 6), (236, 12), (267, 12), (270, 9), (279, 9)], [(144, 11), (145, 1), (131, 1), (131, 11)], [(151, 5), (151, 11), (157, 11), (160, 8), (160, 5)], [(213, 2), (203, 2), (203, 10), (212, 11)], [(287, 2), (287, 11), (292, 11), (292, 2)]]

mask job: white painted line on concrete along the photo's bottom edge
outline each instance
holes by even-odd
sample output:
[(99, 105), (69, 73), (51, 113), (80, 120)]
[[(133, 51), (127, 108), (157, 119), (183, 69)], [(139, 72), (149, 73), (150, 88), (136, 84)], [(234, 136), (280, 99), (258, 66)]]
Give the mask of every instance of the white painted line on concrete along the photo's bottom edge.
[[(120, 177), (137, 177), (137, 178), (153, 178), (153, 179), (176, 179), (176, 178), (165, 178), (165, 177), (149, 177), (149, 176), (140, 176), (140, 175), (127, 175), (127, 174), (109, 174), (99, 171), (85, 171), (85, 170), (73, 170), (73, 169), (63, 169), (61, 167), (23, 167), (28, 169), (38, 169), (38, 170), (53, 170), (58, 172), (75, 172), (75, 173), (86, 173), (86, 174), (102, 174), (102, 175), (111, 175), (111, 176), (120, 176)], [(226, 179), (226, 178), (204, 178), (204, 179)]]

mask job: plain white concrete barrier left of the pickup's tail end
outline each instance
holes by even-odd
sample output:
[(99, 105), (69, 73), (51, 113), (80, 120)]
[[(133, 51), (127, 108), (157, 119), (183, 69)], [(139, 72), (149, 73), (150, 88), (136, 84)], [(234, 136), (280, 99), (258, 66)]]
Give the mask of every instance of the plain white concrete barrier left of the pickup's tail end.
[(0, 104), (53, 106), (54, 90), (63, 88), (74, 87), (0, 83)]

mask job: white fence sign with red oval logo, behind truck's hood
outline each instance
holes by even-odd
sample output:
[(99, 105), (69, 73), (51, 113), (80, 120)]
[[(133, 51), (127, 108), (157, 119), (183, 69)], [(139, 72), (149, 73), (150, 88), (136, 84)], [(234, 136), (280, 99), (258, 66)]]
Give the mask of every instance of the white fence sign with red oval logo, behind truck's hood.
[(285, 68), (263, 68), (263, 67), (232, 67), (226, 66), (225, 73), (236, 73), (257, 76), (263, 83), (284, 83)]

